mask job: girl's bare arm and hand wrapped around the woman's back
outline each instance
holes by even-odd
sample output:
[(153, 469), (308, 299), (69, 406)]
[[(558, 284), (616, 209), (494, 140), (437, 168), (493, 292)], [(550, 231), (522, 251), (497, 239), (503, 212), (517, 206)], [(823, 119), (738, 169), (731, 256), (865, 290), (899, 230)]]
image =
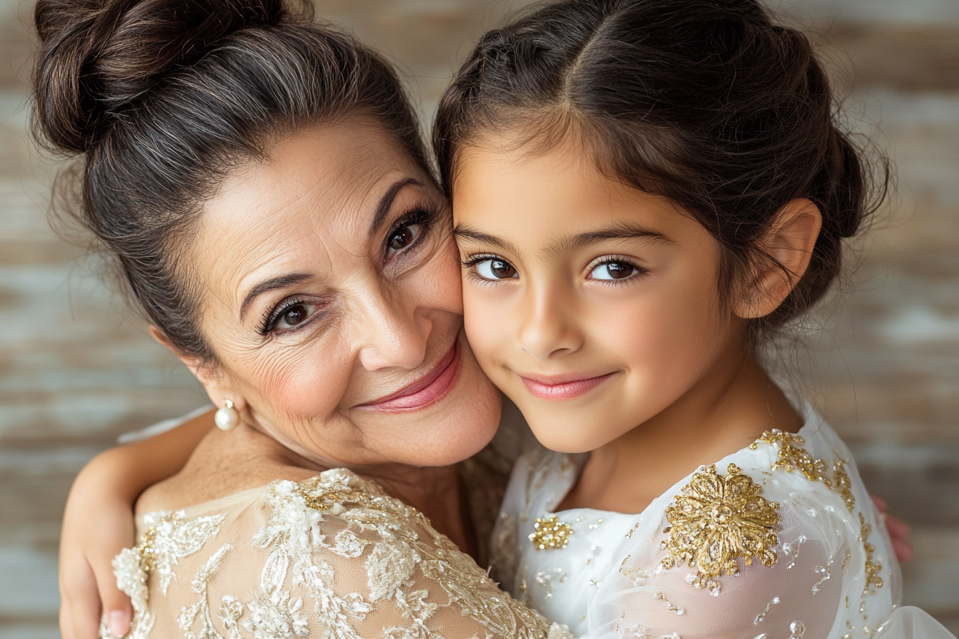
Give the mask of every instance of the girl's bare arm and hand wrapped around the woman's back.
[(60, 534), (60, 632), (96, 639), (103, 615), (114, 636), (132, 618), (111, 560), (135, 543), (133, 505), (140, 493), (174, 475), (213, 426), (213, 410), (149, 440), (111, 448), (77, 475)]

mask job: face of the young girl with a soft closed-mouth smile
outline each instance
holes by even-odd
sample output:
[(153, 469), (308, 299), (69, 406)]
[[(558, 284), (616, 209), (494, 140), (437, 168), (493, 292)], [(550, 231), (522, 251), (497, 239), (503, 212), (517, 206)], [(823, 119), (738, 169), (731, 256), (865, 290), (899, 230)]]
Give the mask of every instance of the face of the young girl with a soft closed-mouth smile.
[(482, 142), (453, 189), (470, 344), (540, 442), (594, 450), (690, 393), (741, 334), (718, 245), (573, 142)]

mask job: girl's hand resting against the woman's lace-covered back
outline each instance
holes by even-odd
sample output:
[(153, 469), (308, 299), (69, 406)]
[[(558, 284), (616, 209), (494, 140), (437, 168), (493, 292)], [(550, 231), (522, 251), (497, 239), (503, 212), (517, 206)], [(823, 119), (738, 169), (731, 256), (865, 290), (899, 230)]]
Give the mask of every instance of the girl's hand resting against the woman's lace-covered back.
[(102, 614), (115, 637), (129, 631), (133, 611), (117, 588), (111, 560), (134, 544), (135, 496), (114, 481), (115, 453), (107, 451), (83, 468), (67, 498), (59, 552), (63, 639), (96, 639)]

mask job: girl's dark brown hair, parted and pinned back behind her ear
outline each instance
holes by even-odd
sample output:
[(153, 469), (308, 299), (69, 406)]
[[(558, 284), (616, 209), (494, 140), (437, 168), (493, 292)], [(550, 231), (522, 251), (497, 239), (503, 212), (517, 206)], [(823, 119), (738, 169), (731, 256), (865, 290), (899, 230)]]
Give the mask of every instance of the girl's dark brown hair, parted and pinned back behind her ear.
[(433, 143), (451, 194), (458, 152), (486, 131), (548, 147), (580, 135), (601, 171), (667, 196), (713, 235), (727, 293), (771, 259), (758, 246), (776, 214), (807, 197), (823, 216), (811, 262), (751, 323), (757, 337), (822, 297), (842, 239), (875, 210), (836, 108), (807, 36), (756, 0), (568, 0), (483, 36), (440, 102)]

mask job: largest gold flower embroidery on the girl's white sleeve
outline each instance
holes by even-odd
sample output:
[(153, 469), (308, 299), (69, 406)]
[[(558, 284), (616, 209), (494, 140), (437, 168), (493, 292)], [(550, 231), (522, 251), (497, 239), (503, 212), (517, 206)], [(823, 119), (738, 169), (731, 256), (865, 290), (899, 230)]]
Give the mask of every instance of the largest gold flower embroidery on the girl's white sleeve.
[(662, 547), (668, 556), (661, 565), (698, 568), (692, 585), (713, 592), (723, 573), (738, 574), (738, 559), (775, 565), (779, 542), (779, 504), (766, 501), (762, 487), (735, 464), (727, 471), (724, 477), (715, 466), (703, 468), (666, 509), (670, 526)]

